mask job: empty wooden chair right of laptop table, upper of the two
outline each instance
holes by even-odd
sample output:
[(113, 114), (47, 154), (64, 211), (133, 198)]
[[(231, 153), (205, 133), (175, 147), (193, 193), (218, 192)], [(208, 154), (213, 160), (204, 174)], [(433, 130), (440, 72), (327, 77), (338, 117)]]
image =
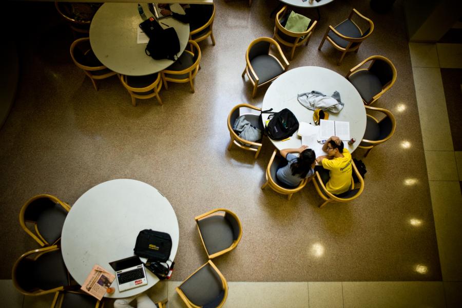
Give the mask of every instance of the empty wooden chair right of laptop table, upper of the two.
[(216, 208), (194, 218), (209, 259), (236, 248), (242, 238), (242, 225), (229, 209)]

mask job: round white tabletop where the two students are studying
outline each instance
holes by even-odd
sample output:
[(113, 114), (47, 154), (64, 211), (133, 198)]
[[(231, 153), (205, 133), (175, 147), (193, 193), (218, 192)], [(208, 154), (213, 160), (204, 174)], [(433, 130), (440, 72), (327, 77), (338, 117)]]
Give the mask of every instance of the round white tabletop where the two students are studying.
[[(280, 111), (284, 108), (290, 109), (297, 117), (298, 122), (306, 122), (314, 125), (313, 111), (307, 109), (297, 100), (297, 95), (301, 93), (319, 91), (324, 95), (332, 95), (334, 91), (340, 93), (340, 99), (345, 105), (339, 113), (329, 112), (329, 120), (350, 122), (350, 137), (355, 138), (356, 142), (349, 145), (344, 142), (345, 147), (353, 152), (364, 136), (366, 126), (366, 113), (361, 96), (356, 88), (342, 75), (323, 67), (303, 66), (286, 71), (280, 75), (265, 93), (261, 109)], [(269, 114), (263, 114), (263, 120)], [(271, 140), (276, 148), (298, 148), (301, 146), (301, 139), (296, 131), (289, 140)], [(325, 155), (318, 153), (316, 156)]]

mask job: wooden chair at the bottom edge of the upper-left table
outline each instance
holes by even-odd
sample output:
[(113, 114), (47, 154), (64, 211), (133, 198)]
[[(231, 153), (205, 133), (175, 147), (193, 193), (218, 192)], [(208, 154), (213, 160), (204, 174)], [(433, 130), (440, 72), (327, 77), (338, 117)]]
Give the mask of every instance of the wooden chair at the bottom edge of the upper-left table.
[(162, 89), (161, 73), (155, 73), (146, 76), (127, 76), (119, 75), (120, 82), (127, 89), (131, 96), (131, 105), (137, 105), (136, 99), (147, 100), (153, 97), (157, 98), (159, 104), (162, 100), (159, 91)]

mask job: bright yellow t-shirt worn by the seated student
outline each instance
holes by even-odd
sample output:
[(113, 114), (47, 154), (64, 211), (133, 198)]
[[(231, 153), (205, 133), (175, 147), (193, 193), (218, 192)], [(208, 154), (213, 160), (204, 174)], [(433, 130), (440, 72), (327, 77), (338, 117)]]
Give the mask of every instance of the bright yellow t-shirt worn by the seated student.
[(343, 157), (334, 159), (324, 158), (322, 166), (329, 171), (330, 179), (325, 188), (334, 195), (348, 191), (351, 187), (351, 154), (347, 149), (343, 149)]

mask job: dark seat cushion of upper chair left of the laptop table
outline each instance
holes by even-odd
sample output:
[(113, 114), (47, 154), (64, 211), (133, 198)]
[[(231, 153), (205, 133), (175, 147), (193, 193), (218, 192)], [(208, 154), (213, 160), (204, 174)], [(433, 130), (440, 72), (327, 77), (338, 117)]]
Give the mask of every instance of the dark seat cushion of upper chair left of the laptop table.
[(40, 216), (38, 216), (38, 232), (40, 232), (48, 244), (53, 244), (61, 237), (61, 231), (63, 230), (66, 216), (67, 210), (60, 204), (55, 204), (52, 207), (44, 209)]

